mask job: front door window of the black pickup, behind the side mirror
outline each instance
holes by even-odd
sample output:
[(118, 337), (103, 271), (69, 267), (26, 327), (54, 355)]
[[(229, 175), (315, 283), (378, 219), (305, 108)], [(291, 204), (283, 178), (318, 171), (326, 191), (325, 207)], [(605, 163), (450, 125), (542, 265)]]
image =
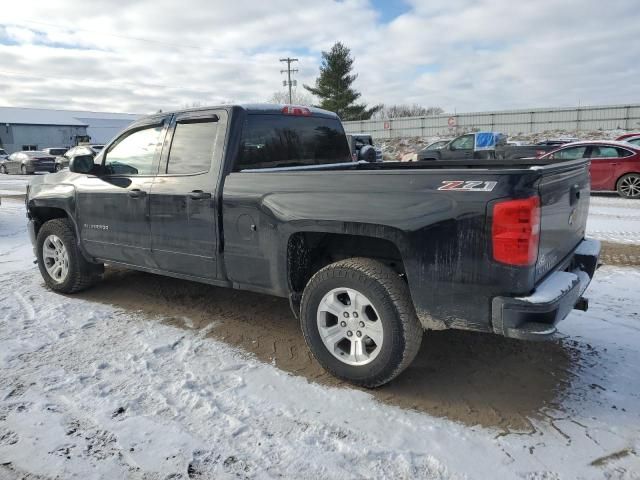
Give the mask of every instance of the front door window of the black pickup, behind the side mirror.
[(137, 130), (121, 138), (107, 152), (105, 171), (111, 174), (151, 175), (162, 126)]

